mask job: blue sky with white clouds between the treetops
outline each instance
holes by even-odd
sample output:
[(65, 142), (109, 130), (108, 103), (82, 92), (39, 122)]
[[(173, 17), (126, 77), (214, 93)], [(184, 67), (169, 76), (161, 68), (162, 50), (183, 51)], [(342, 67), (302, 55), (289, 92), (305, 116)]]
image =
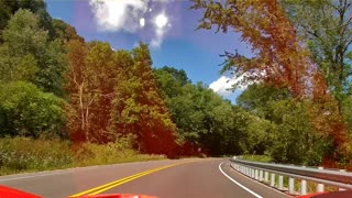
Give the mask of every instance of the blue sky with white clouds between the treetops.
[(250, 56), (240, 34), (197, 30), (201, 10), (189, 10), (188, 0), (45, 0), (50, 14), (73, 25), (87, 42), (103, 41), (113, 50), (131, 50), (140, 41), (150, 45), (153, 67), (184, 69), (193, 82), (202, 81), (235, 101), (241, 89), (221, 76), (224, 51)]

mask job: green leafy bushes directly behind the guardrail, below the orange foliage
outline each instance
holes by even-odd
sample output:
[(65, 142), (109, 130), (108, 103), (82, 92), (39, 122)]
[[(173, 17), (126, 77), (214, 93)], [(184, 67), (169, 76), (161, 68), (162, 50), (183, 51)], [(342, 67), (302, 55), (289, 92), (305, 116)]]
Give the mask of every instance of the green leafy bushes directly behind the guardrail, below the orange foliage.
[(238, 103), (248, 111), (242, 122), (245, 153), (267, 153), (277, 163), (319, 165), (332, 151), (332, 140), (310, 122), (311, 103), (292, 99), (287, 89), (254, 84)]

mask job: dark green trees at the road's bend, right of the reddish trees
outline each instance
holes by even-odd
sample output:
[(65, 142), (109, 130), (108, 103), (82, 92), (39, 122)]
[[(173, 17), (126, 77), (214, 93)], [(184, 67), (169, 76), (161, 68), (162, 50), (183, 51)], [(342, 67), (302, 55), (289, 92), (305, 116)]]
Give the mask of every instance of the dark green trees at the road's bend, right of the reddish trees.
[(234, 109), (206, 85), (191, 85), (183, 70), (163, 67), (153, 73), (176, 123), (180, 142), (216, 156), (242, 152), (240, 142), (244, 130), (239, 120), (243, 111)]

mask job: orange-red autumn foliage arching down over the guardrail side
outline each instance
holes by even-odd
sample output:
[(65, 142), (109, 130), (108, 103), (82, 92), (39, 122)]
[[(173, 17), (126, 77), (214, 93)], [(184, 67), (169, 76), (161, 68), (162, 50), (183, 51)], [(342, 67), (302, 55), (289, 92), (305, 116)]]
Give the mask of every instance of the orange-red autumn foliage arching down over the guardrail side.
[[(310, 122), (315, 129), (334, 140), (337, 152), (346, 144), (346, 128), (329, 94), (327, 82), (310, 52), (299, 40), (295, 26), (275, 0), (228, 0), (226, 3), (194, 0), (193, 9), (202, 9), (199, 29), (241, 33), (251, 45), (254, 57), (226, 52), (223, 72), (244, 76), (240, 84), (263, 81), (285, 86), (296, 100), (310, 100)], [(333, 157), (333, 156), (326, 157)]]

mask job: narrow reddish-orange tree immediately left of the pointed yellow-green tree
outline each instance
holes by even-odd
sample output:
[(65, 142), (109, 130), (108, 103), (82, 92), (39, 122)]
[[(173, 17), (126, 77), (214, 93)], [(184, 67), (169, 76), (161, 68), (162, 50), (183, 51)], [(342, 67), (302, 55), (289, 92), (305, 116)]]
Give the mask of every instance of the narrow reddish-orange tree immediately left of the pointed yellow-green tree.
[(119, 65), (116, 64), (114, 52), (108, 43), (91, 42), (88, 45), (85, 75), (87, 95), (91, 99), (90, 105), (86, 106), (86, 128), (91, 135), (90, 140), (108, 142), (116, 135), (108, 128)]

